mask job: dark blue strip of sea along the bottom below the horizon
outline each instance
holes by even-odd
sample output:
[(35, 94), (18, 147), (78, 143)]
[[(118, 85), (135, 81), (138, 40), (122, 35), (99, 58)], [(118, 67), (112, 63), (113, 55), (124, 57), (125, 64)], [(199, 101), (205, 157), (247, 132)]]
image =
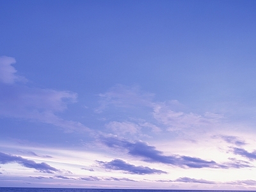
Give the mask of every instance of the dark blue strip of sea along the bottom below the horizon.
[[(228, 190), (0, 188), (0, 192), (239, 192)], [(241, 191), (242, 192), (242, 191)], [(243, 191), (246, 192), (246, 191)]]

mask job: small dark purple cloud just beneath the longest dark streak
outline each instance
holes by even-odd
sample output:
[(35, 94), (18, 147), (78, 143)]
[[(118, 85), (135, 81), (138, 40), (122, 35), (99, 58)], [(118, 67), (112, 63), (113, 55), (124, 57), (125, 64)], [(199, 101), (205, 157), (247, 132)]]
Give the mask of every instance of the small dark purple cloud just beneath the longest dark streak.
[(110, 162), (97, 161), (102, 167), (107, 170), (122, 170), (125, 173), (146, 175), (146, 174), (161, 174), (167, 173), (161, 170), (149, 168), (148, 166), (135, 166), (133, 164), (126, 163), (121, 159), (115, 159)]

